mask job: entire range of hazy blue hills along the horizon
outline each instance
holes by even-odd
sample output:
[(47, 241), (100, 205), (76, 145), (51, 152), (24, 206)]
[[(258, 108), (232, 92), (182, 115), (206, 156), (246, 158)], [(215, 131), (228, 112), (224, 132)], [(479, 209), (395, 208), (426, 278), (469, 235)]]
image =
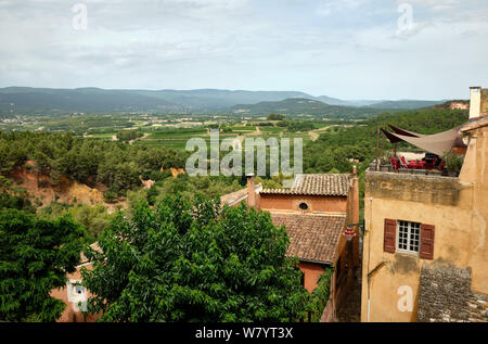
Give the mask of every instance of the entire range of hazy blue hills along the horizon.
[[(299, 99), (301, 101), (292, 101), (293, 104), (286, 102), (280, 104), (280, 102), (290, 99)], [(311, 102), (307, 103), (305, 100)], [(0, 114), (3, 115), (10, 114), (11, 110), (17, 114), (63, 115), (74, 112), (222, 113), (229, 111), (233, 113), (241, 107), (254, 113), (268, 114), (266, 113), (267, 109), (272, 112), (279, 112), (279, 109), (283, 107), (286, 109), (286, 113), (294, 114), (310, 112), (312, 114), (322, 114), (324, 109), (326, 109), (326, 114), (332, 113), (334, 116), (341, 116), (344, 113), (349, 116), (350, 114), (374, 114), (377, 113), (374, 111), (376, 109), (411, 110), (432, 106), (442, 102), (445, 101), (345, 101), (326, 95), (313, 97), (296, 91), (0, 88)], [(361, 107), (364, 105), (368, 105), (370, 109)], [(343, 109), (344, 106), (357, 107), (357, 110)]]

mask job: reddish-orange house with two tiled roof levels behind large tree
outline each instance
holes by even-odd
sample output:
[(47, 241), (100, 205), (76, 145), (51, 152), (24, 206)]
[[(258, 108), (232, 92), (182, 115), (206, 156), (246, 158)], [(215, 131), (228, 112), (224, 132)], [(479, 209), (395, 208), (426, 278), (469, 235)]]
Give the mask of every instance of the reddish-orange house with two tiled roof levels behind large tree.
[[(262, 189), (247, 177), (247, 189), (221, 198), (231, 206), (271, 214), (290, 237), (287, 256), (298, 257), (304, 286), (312, 292), (325, 269), (332, 268), (331, 298), (321, 321), (331, 321), (347, 296), (360, 266), (359, 189), (356, 167), (351, 175), (297, 175), (290, 189)], [(345, 235), (348, 229), (349, 240)]]

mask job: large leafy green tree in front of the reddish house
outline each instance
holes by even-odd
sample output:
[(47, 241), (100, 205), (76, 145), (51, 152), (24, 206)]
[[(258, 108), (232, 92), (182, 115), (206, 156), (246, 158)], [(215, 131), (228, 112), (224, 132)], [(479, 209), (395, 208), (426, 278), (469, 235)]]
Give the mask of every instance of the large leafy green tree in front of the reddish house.
[(88, 250), (84, 284), (102, 321), (294, 321), (308, 300), (269, 213), (167, 196), (120, 213)]

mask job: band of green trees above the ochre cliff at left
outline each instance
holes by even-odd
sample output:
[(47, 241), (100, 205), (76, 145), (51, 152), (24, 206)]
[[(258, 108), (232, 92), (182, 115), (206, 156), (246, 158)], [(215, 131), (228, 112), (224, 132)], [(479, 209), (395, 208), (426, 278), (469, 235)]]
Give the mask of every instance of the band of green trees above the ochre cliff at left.
[(0, 132), (0, 174), (8, 176), (14, 167), (34, 161), (26, 167), (49, 176), (52, 184), (64, 176), (121, 192), (139, 186), (140, 176), (184, 167), (187, 156), (187, 152), (172, 149), (86, 139), (73, 132)]

